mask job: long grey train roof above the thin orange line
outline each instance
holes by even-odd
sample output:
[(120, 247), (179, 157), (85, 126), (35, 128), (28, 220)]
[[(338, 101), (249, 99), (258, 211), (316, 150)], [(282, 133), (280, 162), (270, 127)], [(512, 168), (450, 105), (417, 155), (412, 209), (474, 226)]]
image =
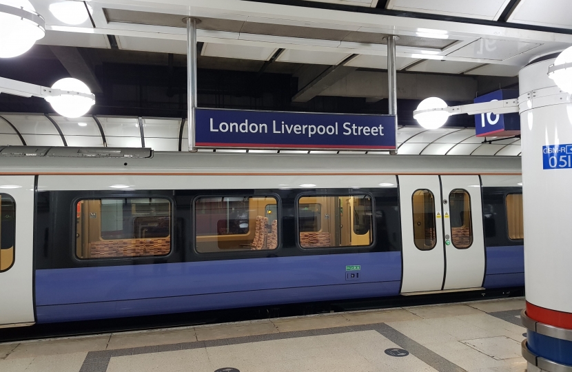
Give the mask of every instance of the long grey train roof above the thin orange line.
[[(34, 155), (35, 154), (35, 155)], [(4, 147), (0, 174), (520, 174), (520, 157)]]

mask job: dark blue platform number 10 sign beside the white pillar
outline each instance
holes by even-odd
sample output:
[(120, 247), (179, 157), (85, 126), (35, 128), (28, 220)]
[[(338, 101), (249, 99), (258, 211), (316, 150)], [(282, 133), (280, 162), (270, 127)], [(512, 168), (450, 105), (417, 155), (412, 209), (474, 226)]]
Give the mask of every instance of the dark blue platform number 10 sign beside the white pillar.
[[(477, 97), (474, 103), (502, 101), (504, 99), (518, 98), (518, 90), (502, 89)], [(520, 134), (520, 115), (511, 114), (487, 114), (475, 115), (475, 130), (478, 137), (496, 136), (510, 137)]]

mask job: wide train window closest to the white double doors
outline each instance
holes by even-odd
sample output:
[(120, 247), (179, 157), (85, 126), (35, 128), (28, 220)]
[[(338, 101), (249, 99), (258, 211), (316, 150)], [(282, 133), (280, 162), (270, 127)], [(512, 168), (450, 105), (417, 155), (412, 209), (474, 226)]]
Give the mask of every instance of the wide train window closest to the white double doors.
[(303, 248), (371, 245), (371, 198), (303, 196), (298, 200), (298, 229)]

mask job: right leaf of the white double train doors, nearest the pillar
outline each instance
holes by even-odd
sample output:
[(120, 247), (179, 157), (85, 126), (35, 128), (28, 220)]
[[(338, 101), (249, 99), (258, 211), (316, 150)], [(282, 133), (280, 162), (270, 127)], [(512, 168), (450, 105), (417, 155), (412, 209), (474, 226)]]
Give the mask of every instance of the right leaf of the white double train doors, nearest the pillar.
[(479, 176), (441, 176), (447, 273), (443, 289), (475, 288), (484, 276)]

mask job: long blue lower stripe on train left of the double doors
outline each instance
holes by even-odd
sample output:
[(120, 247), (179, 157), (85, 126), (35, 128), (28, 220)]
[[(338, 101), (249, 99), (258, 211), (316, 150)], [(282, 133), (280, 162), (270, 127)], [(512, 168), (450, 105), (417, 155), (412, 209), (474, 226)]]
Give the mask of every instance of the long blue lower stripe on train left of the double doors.
[[(359, 280), (346, 280), (347, 265), (361, 266)], [(37, 270), (37, 320), (392, 296), (400, 278), (400, 252)]]

